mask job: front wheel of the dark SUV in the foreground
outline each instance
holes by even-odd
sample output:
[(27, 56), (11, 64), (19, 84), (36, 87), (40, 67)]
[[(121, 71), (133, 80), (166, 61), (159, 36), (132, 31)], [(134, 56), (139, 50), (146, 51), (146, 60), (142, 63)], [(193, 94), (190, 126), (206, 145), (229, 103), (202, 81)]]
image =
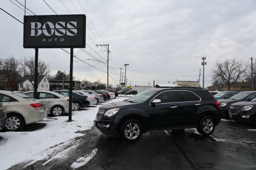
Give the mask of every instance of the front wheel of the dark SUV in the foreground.
[(135, 142), (140, 139), (142, 135), (142, 131), (143, 130), (142, 130), (141, 123), (137, 120), (131, 119), (131, 120), (125, 121), (121, 125), (120, 135), (121, 135), (121, 138), (127, 142)]

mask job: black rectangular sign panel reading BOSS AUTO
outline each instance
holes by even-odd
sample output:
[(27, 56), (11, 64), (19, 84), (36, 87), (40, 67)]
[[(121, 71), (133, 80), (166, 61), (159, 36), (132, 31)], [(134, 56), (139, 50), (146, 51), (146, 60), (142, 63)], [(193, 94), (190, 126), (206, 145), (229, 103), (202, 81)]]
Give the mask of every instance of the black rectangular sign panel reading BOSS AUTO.
[(85, 48), (85, 15), (24, 16), (24, 48)]

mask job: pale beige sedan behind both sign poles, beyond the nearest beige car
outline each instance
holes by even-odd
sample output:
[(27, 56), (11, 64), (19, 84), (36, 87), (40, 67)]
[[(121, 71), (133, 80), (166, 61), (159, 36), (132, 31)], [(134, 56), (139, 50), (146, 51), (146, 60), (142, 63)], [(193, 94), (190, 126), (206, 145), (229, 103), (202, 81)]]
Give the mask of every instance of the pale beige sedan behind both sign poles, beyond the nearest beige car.
[[(34, 91), (25, 92), (24, 95), (33, 98)], [(39, 90), (37, 99), (45, 101), (48, 114), (51, 114), (52, 116), (59, 116), (69, 110), (68, 99), (57, 92)]]

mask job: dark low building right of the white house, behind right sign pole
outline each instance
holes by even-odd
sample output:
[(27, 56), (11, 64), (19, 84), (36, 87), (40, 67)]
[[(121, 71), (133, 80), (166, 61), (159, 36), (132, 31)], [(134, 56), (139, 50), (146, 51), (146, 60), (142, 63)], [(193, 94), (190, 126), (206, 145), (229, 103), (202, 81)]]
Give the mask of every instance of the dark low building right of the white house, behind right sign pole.
[[(69, 89), (69, 80), (49, 80), (49, 83), (51, 91)], [(72, 87), (74, 90), (81, 90), (81, 81), (73, 81)]]

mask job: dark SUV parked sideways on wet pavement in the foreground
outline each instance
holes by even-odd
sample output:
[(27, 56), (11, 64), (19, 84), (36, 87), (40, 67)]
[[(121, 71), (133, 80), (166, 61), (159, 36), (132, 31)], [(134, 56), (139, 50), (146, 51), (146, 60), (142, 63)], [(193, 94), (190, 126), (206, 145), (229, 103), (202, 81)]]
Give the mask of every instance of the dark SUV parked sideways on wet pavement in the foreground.
[(95, 126), (104, 134), (137, 141), (142, 132), (197, 128), (213, 133), (220, 123), (219, 102), (199, 88), (155, 88), (125, 100), (103, 105)]

